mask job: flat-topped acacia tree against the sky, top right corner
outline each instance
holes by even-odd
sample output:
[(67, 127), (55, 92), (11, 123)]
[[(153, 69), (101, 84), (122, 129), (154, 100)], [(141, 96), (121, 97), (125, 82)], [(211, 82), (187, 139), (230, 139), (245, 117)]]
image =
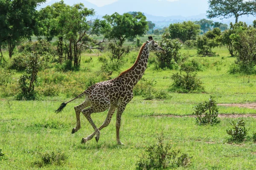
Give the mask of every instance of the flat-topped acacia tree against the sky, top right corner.
[(256, 0), (209, 0), (208, 18), (235, 17), (237, 23), (239, 16), (250, 14), (256, 16)]

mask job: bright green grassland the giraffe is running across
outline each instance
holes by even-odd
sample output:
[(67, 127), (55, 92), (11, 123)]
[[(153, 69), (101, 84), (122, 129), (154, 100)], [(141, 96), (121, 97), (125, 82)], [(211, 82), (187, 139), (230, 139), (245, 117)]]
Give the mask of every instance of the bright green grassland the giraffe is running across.
[[(133, 170), (139, 156), (145, 152), (145, 147), (155, 144), (160, 133), (164, 133), (166, 140), (172, 142), (174, 150), (180, 149), (182, 153), (193, 156), (192, 164), (185, 169), (256, 169), (256, 144), (247, 140), (240, 144), (228, 143), (227, 129), (229, 122), (239, 118), (221, 118), (221, 122), (214, 126), (198, 126), (191, 115), (196, 103), (207, 100), (210, 95), (215, 96), (218, 103), (248, 103), (256, 102), (256, 76), (250, 76), (250, 82), (244, 82), (243, 75), (228, 74), (229, 66), (235, 58), (229, 57), (226, 48), (215, 48), (216, 57), (197, 57), (196, 50), (182, 49), (182, 55), (200, 61), (203, 71), (198, 77), (204, 83), (205, 92), (201, 94), (169, 93), (167, 89), (172, 84), (170, 79), (175, 70), (156, 70), (154, 64), (148, 65), (143, 76), (145, 79), (154, 79), (154, 88), (165, 90), (168, 99), (143, 100), (135, 96), (128, 104), (122, 116), (121, 142), (125, 145), (116, 145), (116, 119), (113, 117), (110, 125), (101, 130), (99, 142), (93, 139), (81, 144), (82, 137), (93, 132), (93, 128), (81, 116), (81, 129), (71, 134), (76, 125), (73, 107), (80, 104), (83, 99), (69, 103), (62, 113), (55, 114), (61, 102), (71, 99), (76, 93), (84, 89), (88, 77), (95, 76), (101, 63), (98, 56), (104, 54), (84, 53), (81, 59), (80, 71), (63, 74), (59, 82), (70, 83), (76, 93), (70, 96), (65, 94), (64, 85), (49, 83), (53, 88), (63, 88), (55, 96), (41, 97), (35, 101), (16, 101), (12, 96), (0, 99), (0, 149), (5, 153), (5, 159), (0, 160), (1, 170), (13, 169), (56, 169), (56, 170)], [(137, 49), (126, 56), (122, 70), (132, 65), (132, 58), (137, 56)], [(7, 55), (6, 55), (7, 56)], [(87, 59), (92, 57), (92, 62)], [(150, 57), (154, 57), (151, 54)], [(21, 73), (12, 75), (17, 81)], [(45, 83), (47, 74), (55, 74), (54, 68), (41, 71), (39, 82)], [(113, 72), (115, 77), (119, 72)], [(60, 77), (60, 76), (59, 76)], [(245, 77), (247, 79), (247, 77)], [(69, 82), (70, 81), (70, 82)], [(79, 84), (79, 86), (76, 86)], [(68, 88), (72, 88), (72, 86)], [(66, 88), (66, 90), (68, 89)], [(15, 95), (15, 94), (13, 94)], [(256, 109), (219, 106), (219, 113), (223, 114), (256, 114)], [(96, 125), (101, 125), (107, 112), (94, 113), (92, 119)], [(184, 115), (183, 117), (166, 117), (161, 115)], [(246, 127), (252, 136), (256, 131), (256, 119), (247, 117)], [(61, 165), (49, 164), (39, 167), (36, 162), (40, 154), (47, 151), (63, 152), (67, 159)], [(179, 167), (178, 169), (183, 169)]]

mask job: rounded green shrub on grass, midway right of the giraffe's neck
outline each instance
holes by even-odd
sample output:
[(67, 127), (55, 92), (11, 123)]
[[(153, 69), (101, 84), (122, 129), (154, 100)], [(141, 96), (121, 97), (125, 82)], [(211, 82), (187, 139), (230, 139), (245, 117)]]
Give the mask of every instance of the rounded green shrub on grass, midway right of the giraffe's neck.
[(195, 60), (183, 62), (180, 66), (180, 72), (173, 74), (171, 77), (174, 82), (169, 91), (177, 93), (200, 93), (204, 91), (203, 83), (194, 73), (200, 69), (199, 63)]

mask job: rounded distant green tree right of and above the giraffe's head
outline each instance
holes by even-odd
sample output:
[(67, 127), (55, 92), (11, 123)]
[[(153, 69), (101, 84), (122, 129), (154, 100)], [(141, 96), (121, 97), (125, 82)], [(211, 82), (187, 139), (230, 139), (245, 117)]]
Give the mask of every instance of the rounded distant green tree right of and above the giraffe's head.
[(170, 38), (178, 38), (185, 42), (186, 40), (195, 40), (200, 32), (200, 25), (192, 21), (183, 23), (174, 23), (169, 26)]

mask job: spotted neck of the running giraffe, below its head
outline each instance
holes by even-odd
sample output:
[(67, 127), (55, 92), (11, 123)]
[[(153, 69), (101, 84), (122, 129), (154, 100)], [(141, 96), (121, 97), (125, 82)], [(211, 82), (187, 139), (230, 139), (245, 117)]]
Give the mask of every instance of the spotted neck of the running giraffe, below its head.
[(124, 77), (128, 79), (127, 83), (130, 86), (132, 86), (132, 88), (134, 87), (134, 85), (137, 84), (137, 82), (139, 82), (139, 80), (145, 73), (145, 70), (148, 64), (148, 56), (149, 56), (148, 44), (146, 44), (145, 47), (141, 50), (143, 51), (137, 63), (134, 64), (134, 67), (132, 67), (130, 71), (124, 74)]

